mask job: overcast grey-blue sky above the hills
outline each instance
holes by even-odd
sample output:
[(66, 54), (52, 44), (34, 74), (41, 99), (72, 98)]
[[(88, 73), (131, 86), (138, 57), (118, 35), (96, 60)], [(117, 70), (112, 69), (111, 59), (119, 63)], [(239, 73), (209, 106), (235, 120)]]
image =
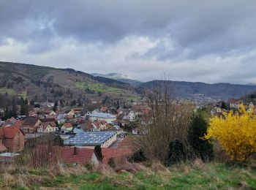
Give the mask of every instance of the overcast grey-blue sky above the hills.
[(1, 0), (0, 60), (256, 83), (256, 1)]

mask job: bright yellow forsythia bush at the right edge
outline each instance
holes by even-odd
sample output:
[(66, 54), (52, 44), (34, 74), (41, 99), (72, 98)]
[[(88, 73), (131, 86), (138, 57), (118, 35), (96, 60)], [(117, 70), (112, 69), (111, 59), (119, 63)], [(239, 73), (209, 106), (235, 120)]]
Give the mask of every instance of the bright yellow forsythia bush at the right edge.
[(256, 152), (256, 115), (249, 113), (244, 105), (238, 113), (222, 113), (210, 119), (204, 140), (214, 139), (219, 142), (227, 156), (233, 161), (246, 161), (251, 153)]

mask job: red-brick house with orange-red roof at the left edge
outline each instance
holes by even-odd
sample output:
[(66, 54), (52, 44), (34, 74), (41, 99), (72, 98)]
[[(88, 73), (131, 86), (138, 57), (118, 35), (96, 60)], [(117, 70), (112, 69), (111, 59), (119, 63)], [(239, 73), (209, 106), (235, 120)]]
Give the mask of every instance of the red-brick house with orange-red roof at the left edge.
[(20, 129), (21, 123), (22, 121), (16, 121), (12, 126), (0, 128), (0, 152), (23, 151), (25, 133)]

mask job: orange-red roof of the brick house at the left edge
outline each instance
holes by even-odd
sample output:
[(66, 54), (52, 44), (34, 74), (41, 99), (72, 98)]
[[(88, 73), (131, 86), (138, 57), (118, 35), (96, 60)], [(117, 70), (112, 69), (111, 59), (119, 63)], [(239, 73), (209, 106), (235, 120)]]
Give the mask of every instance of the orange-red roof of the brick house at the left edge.
[(21, 131), (24, 134), (24, 132), (20, 129), (21, 123), (22, 121), (17, 121), (14, 123), (13, 126), (1, 127), (0, 139), (3, 139), (3, 138), (13, 139), (19, 131)]

